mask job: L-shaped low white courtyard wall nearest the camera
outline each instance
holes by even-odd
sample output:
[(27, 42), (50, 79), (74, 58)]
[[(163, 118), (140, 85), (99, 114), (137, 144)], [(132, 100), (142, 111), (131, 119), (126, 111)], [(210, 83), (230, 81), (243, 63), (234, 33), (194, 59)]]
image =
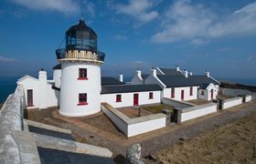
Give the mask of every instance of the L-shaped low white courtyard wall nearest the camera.
[(108, 103), (101, 103), (101, 109), (127, 138), (158, 128), (165, 128), (166, 116), (159, 113), (140, 118), (128, 118)]

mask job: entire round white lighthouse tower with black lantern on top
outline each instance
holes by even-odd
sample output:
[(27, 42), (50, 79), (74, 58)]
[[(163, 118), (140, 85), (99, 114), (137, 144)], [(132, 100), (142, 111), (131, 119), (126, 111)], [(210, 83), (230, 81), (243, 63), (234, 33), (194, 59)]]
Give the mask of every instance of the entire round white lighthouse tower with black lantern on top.
[(97, 35), (80, 19), (66, 32), (66, 47), (56, 50), (61, 64), (59, 114), (88, 116), (101, 111), (101, 64)]

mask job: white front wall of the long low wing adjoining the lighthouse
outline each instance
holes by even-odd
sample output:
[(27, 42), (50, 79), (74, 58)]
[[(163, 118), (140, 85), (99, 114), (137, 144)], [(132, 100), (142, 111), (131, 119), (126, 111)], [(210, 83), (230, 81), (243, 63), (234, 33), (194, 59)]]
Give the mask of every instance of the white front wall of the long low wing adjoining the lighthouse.
[[(149, 99), (149, 93), (153, 92), (153, 99)], [(139, 94), (139, 105), (155, 104), (161, 102), (161, 91), (131, 92), (102, 94), (101, 102), (107, 102), (114, 108), (133, 106), (133, 94)], [(122, 102), (116, 102), (116, 95), (122, 95)]]

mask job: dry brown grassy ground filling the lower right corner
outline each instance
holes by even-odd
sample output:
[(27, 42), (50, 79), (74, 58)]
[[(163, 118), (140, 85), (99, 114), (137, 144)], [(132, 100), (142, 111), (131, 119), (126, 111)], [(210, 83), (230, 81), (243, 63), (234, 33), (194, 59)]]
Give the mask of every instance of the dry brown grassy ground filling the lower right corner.
[(256, 163), (256, 113), (156, 153), (168, 163)]

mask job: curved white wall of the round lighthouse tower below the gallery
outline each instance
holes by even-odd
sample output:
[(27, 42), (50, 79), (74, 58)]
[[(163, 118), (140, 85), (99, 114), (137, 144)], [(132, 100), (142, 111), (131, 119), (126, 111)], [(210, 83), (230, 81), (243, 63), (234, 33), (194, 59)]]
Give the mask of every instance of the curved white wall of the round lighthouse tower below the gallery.
[[(85, 62), (62, 62), (59, 114), (88, 116), (101, 111), (101, 68)], [(87, 80), (78, 80), (79, 68), (87, 68)], [(79, 94), (87, 93), (88, 105), (78, 106)]]

